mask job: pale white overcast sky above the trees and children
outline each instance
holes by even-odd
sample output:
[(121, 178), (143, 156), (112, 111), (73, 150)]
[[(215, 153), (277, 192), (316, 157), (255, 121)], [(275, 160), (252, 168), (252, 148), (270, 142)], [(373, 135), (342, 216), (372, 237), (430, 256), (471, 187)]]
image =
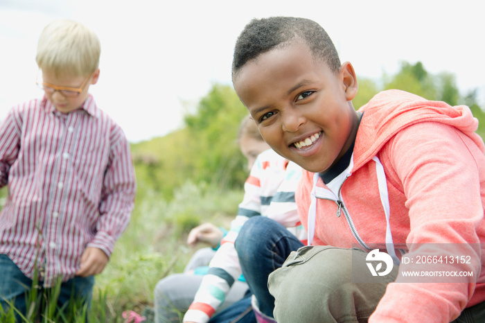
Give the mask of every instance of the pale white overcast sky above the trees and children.
[(461, 94), (479, 89), (484, 107), (484, 9), (479, 0), (0, 0), (0, 119), (12, 105), (42, 96), (35, 49), (58, 18), (98, 34), (101, 74), (91, 93), (131, 142), (178, 128), (214, 82), (231, 84), (234, 43), (254, 17), (319, 22), (360, 77), (396, 73), (402, 61), (448, 71)]

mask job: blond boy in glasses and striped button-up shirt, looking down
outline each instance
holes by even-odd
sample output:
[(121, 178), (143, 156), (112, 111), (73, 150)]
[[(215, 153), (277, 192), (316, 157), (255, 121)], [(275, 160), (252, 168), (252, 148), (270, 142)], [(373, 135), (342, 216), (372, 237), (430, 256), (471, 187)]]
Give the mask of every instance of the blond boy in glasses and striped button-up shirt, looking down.
[(13, 107), (0, 125), (3, 311), (13, 302), (26, 315), (35, 279), (40, 289), (62, 281), (59, 306), (71, 293), (89, 306), (94, 275), (130, 220), (130, 145), (89, 94), (99, 56), (98, 37), (82, 24), (48, 24), (37, 46), (44, 97)]

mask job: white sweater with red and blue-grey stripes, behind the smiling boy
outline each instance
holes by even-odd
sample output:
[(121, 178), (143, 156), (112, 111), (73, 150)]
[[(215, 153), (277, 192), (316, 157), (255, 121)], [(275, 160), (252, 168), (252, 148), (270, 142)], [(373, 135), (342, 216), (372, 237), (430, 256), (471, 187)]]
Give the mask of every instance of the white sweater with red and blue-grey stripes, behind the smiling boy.
[(294, 202), (294, 191), (300, 177), (301, 168), (273, 150), (266, 150), (258, 156), (245, 183), (245, 195), (239, 204), (238, 215), (231, 222), (229, 233), (221, 241), (209, 265), (209, 272), (184, 316), (184, 322), (208, 322), (224, 302), (233, 282), (241, 274), (234, 241), (249, 218), (272, 218), (306, 243), (306, 231), (301, 225)]

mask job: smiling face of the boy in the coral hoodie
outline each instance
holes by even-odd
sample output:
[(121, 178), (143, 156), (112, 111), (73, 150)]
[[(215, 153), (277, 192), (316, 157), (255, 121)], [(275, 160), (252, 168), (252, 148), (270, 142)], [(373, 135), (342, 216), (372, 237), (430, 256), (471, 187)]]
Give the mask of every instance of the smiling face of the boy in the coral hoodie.
[(349, 62), (331, 71), (295, 40), (249, 60), (233, 84), (265, 141), (307, 171), (326, 171), (355, 139), (350, 101), (358, 86)]

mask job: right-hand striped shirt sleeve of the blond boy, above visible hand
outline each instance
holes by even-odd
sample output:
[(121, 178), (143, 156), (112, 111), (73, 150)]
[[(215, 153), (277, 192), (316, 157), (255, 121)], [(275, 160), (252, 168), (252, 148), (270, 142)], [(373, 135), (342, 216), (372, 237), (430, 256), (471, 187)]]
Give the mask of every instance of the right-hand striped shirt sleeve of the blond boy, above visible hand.
[(111, 256), (114, 243), (130, 221), (134, 206), (136, 179), (130, 153), (130, 144), (123, 132), (118, 136), (109, 152), (109, 163), (103, 180), (96, 236), (89, 247), (98, 247)]

